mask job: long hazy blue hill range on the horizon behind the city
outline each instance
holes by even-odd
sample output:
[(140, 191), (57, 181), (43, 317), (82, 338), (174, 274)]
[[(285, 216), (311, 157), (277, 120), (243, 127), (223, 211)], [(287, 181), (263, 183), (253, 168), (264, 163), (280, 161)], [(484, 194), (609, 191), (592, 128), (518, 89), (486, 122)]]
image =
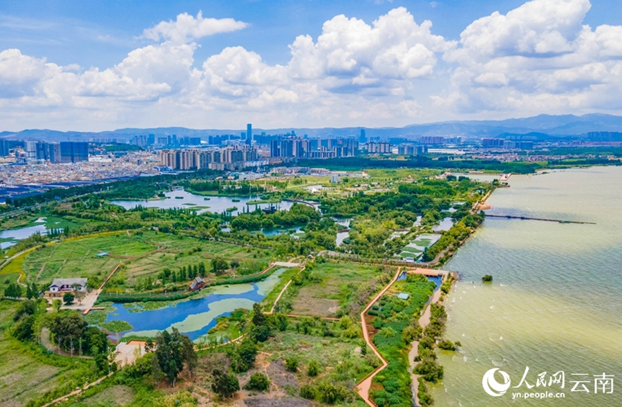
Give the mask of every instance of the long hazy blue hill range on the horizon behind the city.
[[(265, 131), (267, 134), (281, 134), (295, 131), (298, 135), (309, 137), (328, 136), (358, 136), (361, 129), (365, 129), (370, 137), (392, 138), (416, 138), (422, 135), (452, 136), (461, 135), (466, 138), (502, 137), (512, 136), (520, 138), (521, 135), (536, 137), (536, 140), (545, 138), (571, 137), (576, 138), (586, 135), (590, 131), (622, 131), (622, 116), (592, 113), (589, 115), (538, 115), (522, 119), (506, 120), (466, 120), (453, 122), (437, 122), (429, 124), (412, 124), (410, 126), (366, 128), (344, 127), (323, 129), (283, 128), (283, 129), (254, 129), (258, 134)], [(178, 136), (193, 136), (207, 138), (209, 135), (236, 134), (239, 135), (245, 129), (187, 129), (185, 127), (156, 127), (152, 129), (117, 129), (114, 131), (83, 132), (83, 131), (55, 131), (30, 129), (19, 132), (2, 131), (0, 139), (8, 140), (89, 140), (91, 138), (117, 138), (129, 140), (134, 135), (147, 135), (153, 133), (156, 137), (176, 134)]]

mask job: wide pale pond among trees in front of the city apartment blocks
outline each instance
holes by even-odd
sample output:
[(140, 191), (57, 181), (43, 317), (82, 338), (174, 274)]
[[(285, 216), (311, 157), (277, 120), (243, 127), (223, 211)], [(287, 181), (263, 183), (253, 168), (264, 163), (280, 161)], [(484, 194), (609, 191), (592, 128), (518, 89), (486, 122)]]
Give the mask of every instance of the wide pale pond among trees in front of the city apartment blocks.
[(183, 189), (176, 189), (164, 193), (166, 199), (162, 200), (113, 200), (111, 203), (120, 205), (125, 209), (132, 209), (138, 205), (148, 208), (160, 208), (160, 209), (192, 209), (196, 208), (197, 213), (201, 214), (205, 211), (214, 213), (220, 213), (226, 211), (229, 208), (236, 207), (235, 211), (232, 211), (233, 215), (237, 215), (243, 207), (247, 207), (249, 210), (254, 211), (256, 208), (269, 208), (270, 205), (276, 207), (276, 209), (288, 210), (292, 207), (292, 202), (277, 202), (273, 204), (252, 204), (247, 205), (247, 202), (252, 200), (260, 200), (258, 196), (255, 197), (242, 197), (242, 196), (202, 196), (194, 193), (189, 193)]

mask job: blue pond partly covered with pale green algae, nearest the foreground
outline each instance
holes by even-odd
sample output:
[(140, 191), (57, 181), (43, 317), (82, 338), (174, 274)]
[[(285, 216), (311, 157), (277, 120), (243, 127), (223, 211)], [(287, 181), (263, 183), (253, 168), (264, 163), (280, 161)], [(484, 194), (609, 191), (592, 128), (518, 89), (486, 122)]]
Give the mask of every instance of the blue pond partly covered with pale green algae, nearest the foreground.
[(263, 300), (279, 283), (286, 268), (253, 284), (234, 284), (214, 287), (200, 299), (181, 301), (159, 310), (141, 310), (140, 303), (114, 303), (115, 311), (108, 314), (106, 322), (127, 321), (132, 330), (111, 335), (119, 339), (125, 335), (155, 337), (157, 332), (177, 328), (182, 334), (196, 341), (216, 326), (218, 316), (227, 316), (237, 308), (252, 310), (253, 304)]

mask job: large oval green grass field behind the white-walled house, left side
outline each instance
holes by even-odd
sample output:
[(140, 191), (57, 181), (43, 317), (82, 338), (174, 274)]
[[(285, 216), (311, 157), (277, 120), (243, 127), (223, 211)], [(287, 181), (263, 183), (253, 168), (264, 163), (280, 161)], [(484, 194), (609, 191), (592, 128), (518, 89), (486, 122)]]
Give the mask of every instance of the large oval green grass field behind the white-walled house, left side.
[[(96, 256), (102, 252), (108, 256)], [(134, 287), (138, 278), (151, 275), (155, 279), (167, 267), (176, 270), (202, 261), (209, 269), (209, 262), (216, 256), (227, 261), (235, 259), (241, 269), (257, 271), (271, 260), (269, 252), (261, 249), (148, 231), (142, 235), (120, 232), (47, 245), (28, 254), (23, 264), (16, 258), (6, 269), (12, 273), (23, 269), (26, 281), (47, 285), (54, 278), (102, 280), (124, 262), (118, 277), (126, 280), (125, 287)]]

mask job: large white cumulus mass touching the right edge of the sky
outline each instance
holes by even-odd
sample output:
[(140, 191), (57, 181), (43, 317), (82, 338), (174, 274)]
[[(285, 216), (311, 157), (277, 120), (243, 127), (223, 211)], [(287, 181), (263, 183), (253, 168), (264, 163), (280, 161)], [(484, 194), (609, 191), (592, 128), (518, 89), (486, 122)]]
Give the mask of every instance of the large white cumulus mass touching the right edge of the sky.
[[(459, 112), (601, 108), (622, 91), (622, 27), (582, 25), (589, 0), (533, 0), (473, 21), (444, 59), (458, 64), (447, 106)], [(606, 91), (603, 93), (603, 86)], [(622, 108), (619, 102), (614, 108)]]

